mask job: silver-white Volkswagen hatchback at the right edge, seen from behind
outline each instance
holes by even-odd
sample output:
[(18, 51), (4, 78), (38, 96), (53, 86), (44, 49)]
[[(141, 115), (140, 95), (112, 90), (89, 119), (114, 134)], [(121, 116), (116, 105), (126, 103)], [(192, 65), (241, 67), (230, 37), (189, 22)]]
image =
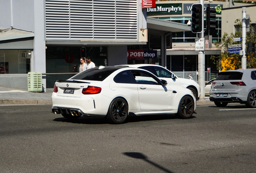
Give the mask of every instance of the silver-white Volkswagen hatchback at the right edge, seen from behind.
[(256, 69), (220, 72), (212, 82), (209, 98), (218, 107), (242, 103), (249, 108), (256, 108)]

